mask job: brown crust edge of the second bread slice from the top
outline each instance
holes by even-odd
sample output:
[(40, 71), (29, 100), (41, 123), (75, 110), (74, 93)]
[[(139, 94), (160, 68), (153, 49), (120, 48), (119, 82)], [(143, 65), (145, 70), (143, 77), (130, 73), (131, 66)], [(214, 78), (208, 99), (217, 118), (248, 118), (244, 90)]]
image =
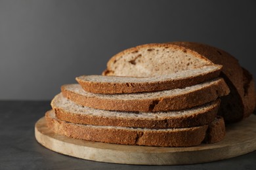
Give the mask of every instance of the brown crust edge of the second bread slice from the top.
[(203, 105), (215, 101), (218, 97), (229, 93), (228, 86), (221, 78), (211, 86), (202, 87), (194, 92), (181, 95), (167, 96), (156, 99), (103, 99), (96, 96), (85, 96), (61, 87), (64, 97), (78, 105), (102, 110), (119, 110), (130, 112), (157, 112), (167, 110), (181, 110)]

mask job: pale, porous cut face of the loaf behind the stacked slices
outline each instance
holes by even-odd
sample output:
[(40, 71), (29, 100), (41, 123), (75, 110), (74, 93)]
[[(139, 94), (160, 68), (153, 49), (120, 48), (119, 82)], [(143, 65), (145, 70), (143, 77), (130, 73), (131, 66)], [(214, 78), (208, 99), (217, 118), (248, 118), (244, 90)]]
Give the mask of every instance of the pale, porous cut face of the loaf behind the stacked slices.
[(144, 44), (119, 52), (108, 61), (104, 75), (158, 76), (213, 65), (202, 55), (174, 44)]

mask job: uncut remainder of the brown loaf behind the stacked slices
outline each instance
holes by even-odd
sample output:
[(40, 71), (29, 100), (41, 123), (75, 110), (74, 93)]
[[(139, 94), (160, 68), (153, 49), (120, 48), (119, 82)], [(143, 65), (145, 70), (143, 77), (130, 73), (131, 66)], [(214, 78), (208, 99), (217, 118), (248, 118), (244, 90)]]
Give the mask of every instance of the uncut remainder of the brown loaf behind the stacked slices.
[[(250, 115), (254, 107), (245, 101), (244, 95), (248, 90), (244, 86), (244, 74), (238, 60), (223, 50), (205, 44), (170, 42), (129, 48), (111, 58), (102, 74), (156, 76), (212, 64), (223, 65), (221, 76), (230, 88), (230, 94), (222, 99), (219, 114), (224, 116), (226, 122), (238, 122)], [(254, 86), (253, 80), (249, 84)]]

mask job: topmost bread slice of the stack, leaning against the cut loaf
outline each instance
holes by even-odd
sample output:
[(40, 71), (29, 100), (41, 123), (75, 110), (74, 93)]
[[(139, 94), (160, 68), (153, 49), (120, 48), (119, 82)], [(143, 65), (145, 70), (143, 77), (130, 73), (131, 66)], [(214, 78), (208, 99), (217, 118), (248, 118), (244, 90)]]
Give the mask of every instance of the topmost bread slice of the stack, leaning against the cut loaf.
[(146, 78), (123, 76), (79, 76), (77, 82), (83, 90), (91, 93), (136, 93), (185, 88), (217, 78), (221, 65), (206, 65), (191, 69)]

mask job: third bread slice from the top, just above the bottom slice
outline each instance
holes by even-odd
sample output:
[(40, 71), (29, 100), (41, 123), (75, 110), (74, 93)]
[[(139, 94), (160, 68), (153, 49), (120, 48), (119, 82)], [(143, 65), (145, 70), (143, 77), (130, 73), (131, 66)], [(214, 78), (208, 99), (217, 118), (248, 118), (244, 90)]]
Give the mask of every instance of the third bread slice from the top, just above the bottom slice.
[(121, 126), (170, 128), (192, 127), (209, 124), (215, 120), (220, 99), (205, 105), (187, 110), (168, 112), (116, 112), (82, 107), (63, 97), (56, 95), (51, 102), (56, 118), (74, 124), (90, 124), (95, 126)]

